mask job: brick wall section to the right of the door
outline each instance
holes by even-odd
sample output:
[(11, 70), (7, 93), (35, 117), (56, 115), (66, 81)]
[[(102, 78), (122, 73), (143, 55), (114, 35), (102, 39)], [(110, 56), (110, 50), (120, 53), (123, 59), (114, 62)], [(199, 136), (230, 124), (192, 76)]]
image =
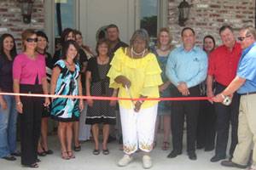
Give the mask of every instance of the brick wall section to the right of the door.
[[(221, 44), (218, 29), (224, 24), (235, 28), (237, 35), (241, 26), (254, 26), (255, 0), (186, 0), (192, 4), (186, 26), (195, 29), (196, 41), (201, 44), (203, 37), (210, 34)], [(169, 0), (168, 23), (172, 31), (174, 43), (180, 42), (177, 6), (182, 0)]]

